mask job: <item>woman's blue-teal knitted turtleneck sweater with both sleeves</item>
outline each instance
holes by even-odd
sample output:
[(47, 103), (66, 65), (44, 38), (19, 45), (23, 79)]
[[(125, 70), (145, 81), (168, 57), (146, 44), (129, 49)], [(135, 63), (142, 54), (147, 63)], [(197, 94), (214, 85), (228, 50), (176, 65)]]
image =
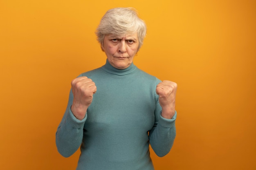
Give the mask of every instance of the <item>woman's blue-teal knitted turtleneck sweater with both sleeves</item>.
[(87, 76), (97, 86), (83, 120), (67, 109), (56, 132), (56, 146), (64, 157), (80, 147), (76, 170), (154, 170), (149, 144), (162, 157), (173, 146), (175, 119), (161, 116), (155, 92), (159, 79), (134, 64), (119, 70), (106, 62)]

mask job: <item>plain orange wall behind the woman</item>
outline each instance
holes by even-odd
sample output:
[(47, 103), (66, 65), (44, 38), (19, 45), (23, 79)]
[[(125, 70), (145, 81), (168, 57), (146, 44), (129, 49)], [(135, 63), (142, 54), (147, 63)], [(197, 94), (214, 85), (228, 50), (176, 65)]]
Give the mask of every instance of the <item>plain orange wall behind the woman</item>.
[(253, 0), (1, 0), (0, 167), (71, 170), (56, 128), (70, 82), (105, 63), (94, 31), (112, 7), (148, 26), (135, 64), (177, 82), (177, 137), (156, 170), (256, 169)]

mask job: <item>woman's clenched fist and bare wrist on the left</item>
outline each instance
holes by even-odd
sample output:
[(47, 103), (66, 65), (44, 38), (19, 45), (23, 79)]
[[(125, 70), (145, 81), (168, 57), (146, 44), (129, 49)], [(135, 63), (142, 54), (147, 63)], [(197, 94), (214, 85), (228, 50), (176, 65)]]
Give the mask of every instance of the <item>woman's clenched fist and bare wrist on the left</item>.
[(77, 119), (82, 120), (85, 117), (87, 108), (92, 103), (92, 97), (96, 93), (97, 87), (92, 79), (85, 76), (72, 80), (71, 86), (74, 96), (71, 110)]

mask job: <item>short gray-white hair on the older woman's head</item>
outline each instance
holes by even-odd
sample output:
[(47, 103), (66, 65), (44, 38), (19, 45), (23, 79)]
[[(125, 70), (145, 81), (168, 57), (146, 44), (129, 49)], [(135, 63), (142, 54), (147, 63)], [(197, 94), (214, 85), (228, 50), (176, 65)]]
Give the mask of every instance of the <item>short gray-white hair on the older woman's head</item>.
[(108, 10), (101, 18), (96, 30), (97, 40), (103, 46), (105, 35), (138, 34), (139, 47), (143, 44), (146, 36), (146, 24), (138, 17), (134, 8), (113, 8)]

